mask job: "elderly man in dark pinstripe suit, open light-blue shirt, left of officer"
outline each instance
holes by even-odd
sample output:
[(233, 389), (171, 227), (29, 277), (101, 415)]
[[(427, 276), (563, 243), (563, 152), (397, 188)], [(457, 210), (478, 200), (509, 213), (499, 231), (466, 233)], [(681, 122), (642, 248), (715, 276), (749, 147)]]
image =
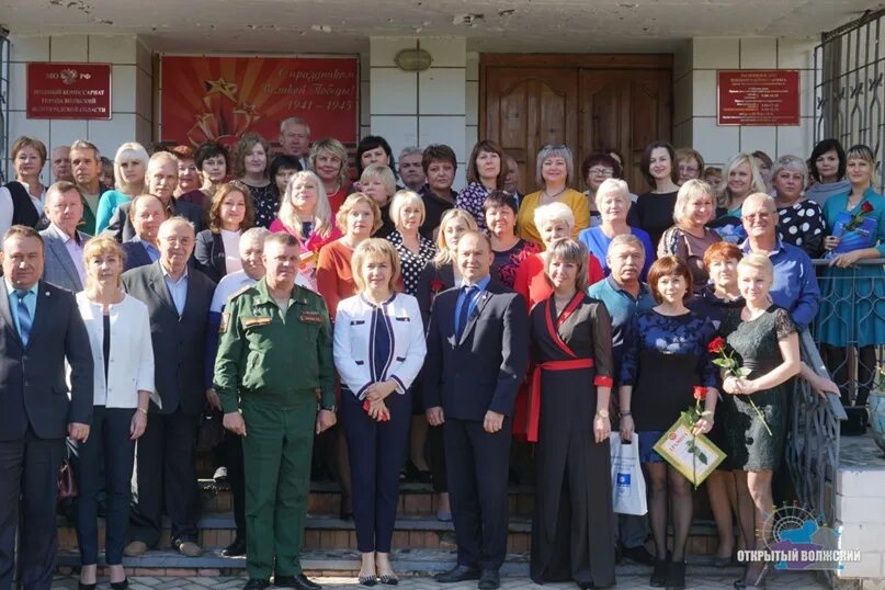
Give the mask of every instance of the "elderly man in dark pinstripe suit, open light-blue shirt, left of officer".
[(158, 235), (160, 259), (123, 273), (126, 292), (148, 306), (156, 386), (162, 407), (152, 401), (145, 433), (138, 439), (137, 489), (131, 543), (137, 556), (160, 541), (162, 509), (172, 521), (172, 546), (196, 557), (200, 496), (194, 451), (196, 429), (206, 405), (203, 371), (208, 317), (215, 283), (188, 268), (194, 228), (181, 217), (167, 219)]

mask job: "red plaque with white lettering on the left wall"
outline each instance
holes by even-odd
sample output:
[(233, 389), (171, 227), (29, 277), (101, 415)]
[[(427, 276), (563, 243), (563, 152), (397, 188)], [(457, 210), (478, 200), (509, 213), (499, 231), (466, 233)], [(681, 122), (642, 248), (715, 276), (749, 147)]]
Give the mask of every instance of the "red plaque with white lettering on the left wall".
[(111, 64), (27, 64), (27, 118), (111, 118)]

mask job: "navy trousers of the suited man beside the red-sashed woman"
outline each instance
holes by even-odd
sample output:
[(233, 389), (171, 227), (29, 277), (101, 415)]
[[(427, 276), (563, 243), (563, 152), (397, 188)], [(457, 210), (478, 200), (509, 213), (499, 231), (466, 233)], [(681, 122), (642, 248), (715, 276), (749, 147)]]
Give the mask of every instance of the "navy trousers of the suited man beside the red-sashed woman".
[(443, 428), (458, 564), (497, 570), (507, 557), (510, 419), (495, 434), (473, 420), (446, 418)]

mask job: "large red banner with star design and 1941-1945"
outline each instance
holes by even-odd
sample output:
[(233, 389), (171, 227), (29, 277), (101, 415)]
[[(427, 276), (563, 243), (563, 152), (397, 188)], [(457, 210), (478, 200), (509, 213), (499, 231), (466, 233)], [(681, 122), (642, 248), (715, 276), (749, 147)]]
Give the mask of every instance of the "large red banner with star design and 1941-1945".
[(280, 123), (306, 120), (311, 138), (356, 141), (356, 57), (161, 58), (163, 141), (232, 146), (246, 132), (275, 143)]

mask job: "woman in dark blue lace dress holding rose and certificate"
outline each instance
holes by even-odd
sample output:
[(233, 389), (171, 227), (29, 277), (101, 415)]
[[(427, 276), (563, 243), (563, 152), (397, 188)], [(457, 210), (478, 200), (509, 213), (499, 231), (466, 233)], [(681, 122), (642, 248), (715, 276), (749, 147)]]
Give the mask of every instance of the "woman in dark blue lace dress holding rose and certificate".
[[(692, 293), (689, 266), (673, 256), (658, 259), (648, 272), (657, 307), (634, 316), (625, 338), (621, 364), (621, 436), (639, 435), (639, 457), (651, 490), (648, 517), (656, 559), (650, 585), (684, 588), (685, 542), (693, 503), (691, 483), (669, 466), (655, 443), (694, 404), (694, 387), (707, 388), (705, 411), (696, 433), (710, 432), (717, 399), (716, 367), (707, 344), (716, 333), (713, 322), (685, 307)], [(673, 551), (667, 558), (667, 507), (672, 508)]]

